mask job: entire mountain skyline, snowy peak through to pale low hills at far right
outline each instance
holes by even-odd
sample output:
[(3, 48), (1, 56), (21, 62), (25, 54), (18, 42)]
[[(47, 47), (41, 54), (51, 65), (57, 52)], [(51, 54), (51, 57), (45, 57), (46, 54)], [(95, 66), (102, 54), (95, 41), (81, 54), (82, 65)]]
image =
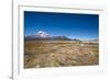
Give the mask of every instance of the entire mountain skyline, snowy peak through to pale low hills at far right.
[(99, 42), (99, 39), (90, 39), (90, 41), (80, 41), (77, 38), (73, 39), (64, 35), (52, 36), (43, 31), (38, 31), (34, 35), (24, 36), (24, 41), (75, 41), (75, 42), (84, 42), (84, 43), (98, 43)]

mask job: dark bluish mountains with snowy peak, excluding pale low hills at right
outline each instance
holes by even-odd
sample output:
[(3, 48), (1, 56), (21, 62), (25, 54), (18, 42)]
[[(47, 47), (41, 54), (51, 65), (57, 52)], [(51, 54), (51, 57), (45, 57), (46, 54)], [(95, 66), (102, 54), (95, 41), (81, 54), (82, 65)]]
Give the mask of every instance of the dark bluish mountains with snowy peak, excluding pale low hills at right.
[(70, 38), (68, 38), (67, 36), (52, 36), (50, 34), (47, 34), (46, 32), (43, 31), (38, 31), (35, 35), (28, 35), (24, 36), (25, 41), (72, 41)]

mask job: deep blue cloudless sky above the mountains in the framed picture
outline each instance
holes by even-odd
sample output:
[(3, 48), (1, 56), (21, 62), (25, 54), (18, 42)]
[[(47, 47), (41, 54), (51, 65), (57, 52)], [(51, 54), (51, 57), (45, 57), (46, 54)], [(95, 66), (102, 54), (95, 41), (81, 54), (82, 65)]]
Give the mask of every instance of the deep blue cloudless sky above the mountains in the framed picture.
[(77, 39), (98, 39), (99, 15), (24, 11), (24, 35), (38, 31), (52, 36), (64, 35)]

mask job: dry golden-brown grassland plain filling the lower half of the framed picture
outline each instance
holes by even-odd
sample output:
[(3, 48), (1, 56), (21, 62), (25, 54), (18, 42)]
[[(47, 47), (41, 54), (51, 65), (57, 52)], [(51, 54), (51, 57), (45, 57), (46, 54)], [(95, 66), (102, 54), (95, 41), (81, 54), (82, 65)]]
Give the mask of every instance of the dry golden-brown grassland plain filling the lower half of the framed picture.
[(24, 68), (94, 66), (99, 64), (99, 44), (74, 41), (24, 42)]

